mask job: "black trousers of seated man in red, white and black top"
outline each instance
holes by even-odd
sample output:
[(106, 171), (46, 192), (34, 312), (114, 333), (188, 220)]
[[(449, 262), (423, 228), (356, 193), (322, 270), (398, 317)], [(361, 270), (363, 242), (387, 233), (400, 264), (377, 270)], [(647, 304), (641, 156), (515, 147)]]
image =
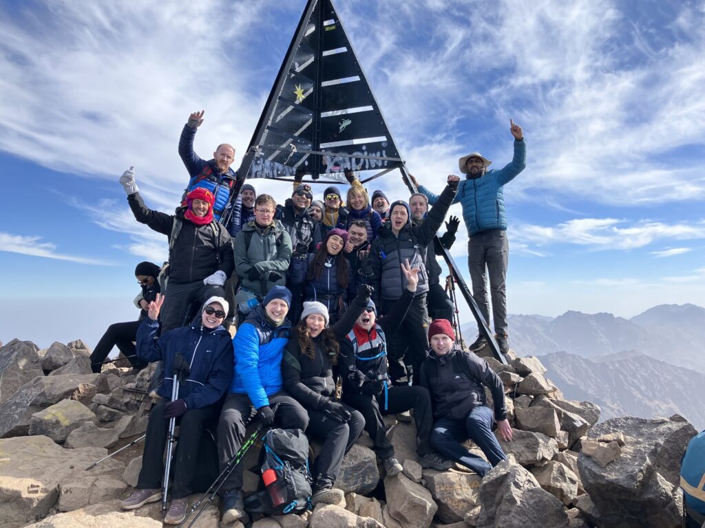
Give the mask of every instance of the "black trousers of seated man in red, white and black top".
[(426, 455), (433, 451), (429, 443), (433, 415), (431, 413), (431, 396), (422, 386), (393, 386), (387, 391), (387, 408), (384, 408), (384, 391), (379, 396), (343, 392), (343, 401), (356, 408), (364, 417), (364, 430), (369, 433), (374, 443), (374, 452), (382, 460), (394, 456), (394, 448), (387, 438), (382, 415), (403, 413), (414, 410), (416, 422), (417, 453)]

